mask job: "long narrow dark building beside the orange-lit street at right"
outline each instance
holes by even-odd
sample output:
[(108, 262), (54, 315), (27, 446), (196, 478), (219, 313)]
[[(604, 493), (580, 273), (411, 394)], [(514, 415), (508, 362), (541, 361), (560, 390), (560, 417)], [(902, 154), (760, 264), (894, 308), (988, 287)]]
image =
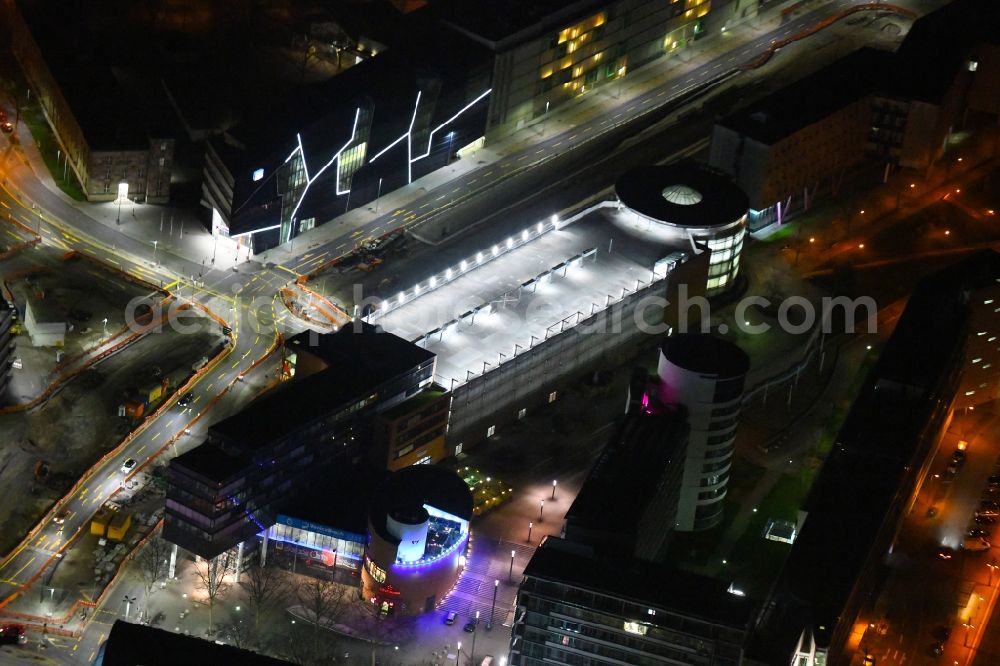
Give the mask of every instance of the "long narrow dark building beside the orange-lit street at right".
[(804, 522), (754, 623), (747, 664), (863, 657), (851, 637), (883, 617), (874, 604), (886, 558), (950, 421), (970, 331), (969, 276), (980, 272), (974, 266), (996, 266), (989, 254), (928, 276), (911, 295), (801, 509)]

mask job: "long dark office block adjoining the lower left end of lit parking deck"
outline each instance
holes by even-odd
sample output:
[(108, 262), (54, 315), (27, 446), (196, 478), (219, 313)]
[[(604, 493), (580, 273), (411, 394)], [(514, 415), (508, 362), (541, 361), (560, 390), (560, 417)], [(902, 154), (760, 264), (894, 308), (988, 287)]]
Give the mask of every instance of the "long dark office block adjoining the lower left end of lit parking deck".
[(237, 545), (242, 553), (328, 463), (383, 467), (386, 458), (367, 446), (373, 415), (418, 395), (434, 372), (434, 354), (368, 325), (300, 334), (286, 354), (301, 376), (170, 461), (163, 534), (171, 543), (202, 557)]

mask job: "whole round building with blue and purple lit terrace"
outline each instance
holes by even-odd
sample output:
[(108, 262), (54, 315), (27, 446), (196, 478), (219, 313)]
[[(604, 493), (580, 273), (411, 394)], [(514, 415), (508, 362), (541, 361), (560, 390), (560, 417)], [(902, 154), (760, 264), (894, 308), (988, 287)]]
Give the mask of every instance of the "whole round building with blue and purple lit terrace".
[(368, 514), (362, 595), (383, 613), (432, 611), (455, 585), (469, 543), (472, 492), (431, 465), (383, 481)]

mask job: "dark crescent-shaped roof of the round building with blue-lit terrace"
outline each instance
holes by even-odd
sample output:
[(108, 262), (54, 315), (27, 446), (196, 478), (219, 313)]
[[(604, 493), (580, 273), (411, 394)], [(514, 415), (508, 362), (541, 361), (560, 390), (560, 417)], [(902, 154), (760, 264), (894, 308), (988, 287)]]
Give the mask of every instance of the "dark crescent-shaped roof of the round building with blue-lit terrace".
[(384, 540), (398, 541), (386, 530), (386, 516), (424, 504), (463, 520), (472, 519), (472, 491), (462, 477), (436, 465), (413, 465), (379, 484), (368, 514), (372, 528)]

